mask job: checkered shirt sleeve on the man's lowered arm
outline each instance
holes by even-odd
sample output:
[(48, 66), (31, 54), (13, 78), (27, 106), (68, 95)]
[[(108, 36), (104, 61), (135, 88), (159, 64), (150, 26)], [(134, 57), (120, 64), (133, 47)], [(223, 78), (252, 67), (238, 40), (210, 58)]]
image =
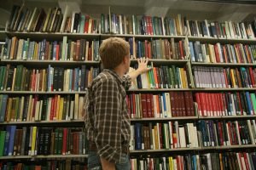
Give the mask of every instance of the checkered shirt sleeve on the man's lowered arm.
[(118, 84), (103, 80), (96, 90), (95, 141), (97, 152), (110, 162), (119, 162), (121, 156), (121, 98)]

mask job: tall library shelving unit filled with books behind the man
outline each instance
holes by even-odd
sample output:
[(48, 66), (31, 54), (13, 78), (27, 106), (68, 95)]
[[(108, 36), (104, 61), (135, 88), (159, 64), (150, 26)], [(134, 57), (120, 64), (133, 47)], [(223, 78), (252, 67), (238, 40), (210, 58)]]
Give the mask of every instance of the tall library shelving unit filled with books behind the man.
[(133, 169), (256, 166), (255, 20), (227, 26), (204, 20), (199, 29), (181, 14), (110, 11), (95, 20), (69, 7), (22, 8), (13, 8), (3, 31), (1, 166), (86, 166), (84, 96), (101, 70), (98, 48), (108, 37), (130, 43), (131, 70), (141, 57), (153, 67), (126, 92)]

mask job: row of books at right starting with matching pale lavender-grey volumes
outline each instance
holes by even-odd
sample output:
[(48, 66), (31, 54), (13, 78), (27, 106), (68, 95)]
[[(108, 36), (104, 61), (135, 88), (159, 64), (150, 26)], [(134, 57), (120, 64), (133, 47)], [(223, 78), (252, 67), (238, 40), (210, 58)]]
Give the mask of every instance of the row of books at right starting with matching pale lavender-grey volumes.
[(196, 88), (255, 88), (253, 67), (223, 68), (193, 66)]

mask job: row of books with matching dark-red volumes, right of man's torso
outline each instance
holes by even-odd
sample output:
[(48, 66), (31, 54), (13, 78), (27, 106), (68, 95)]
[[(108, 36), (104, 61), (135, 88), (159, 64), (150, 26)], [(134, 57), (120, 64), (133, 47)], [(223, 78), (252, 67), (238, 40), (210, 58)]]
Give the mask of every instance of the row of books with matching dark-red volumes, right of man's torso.
[(195, 116), (191, 92), (129, 94), (126, 100), (131, 118)]

